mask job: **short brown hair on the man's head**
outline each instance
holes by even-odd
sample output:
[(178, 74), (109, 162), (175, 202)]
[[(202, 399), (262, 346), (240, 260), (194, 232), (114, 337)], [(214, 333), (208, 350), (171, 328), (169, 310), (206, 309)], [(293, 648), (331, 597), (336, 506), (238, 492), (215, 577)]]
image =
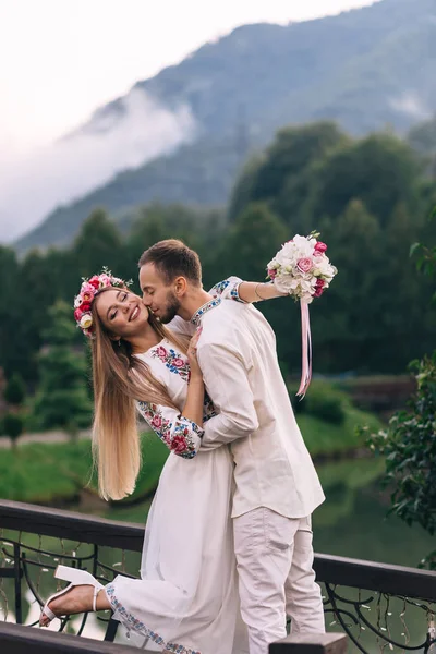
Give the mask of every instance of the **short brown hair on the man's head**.
[(202, 286), (202, 264), (197, 253), (178, 239), (159, 241), (148, 247), (141, 255), (140, 268), (145, 264), (154, 264), (167, 283), (175, 277), (185, 277), (193, 284)]

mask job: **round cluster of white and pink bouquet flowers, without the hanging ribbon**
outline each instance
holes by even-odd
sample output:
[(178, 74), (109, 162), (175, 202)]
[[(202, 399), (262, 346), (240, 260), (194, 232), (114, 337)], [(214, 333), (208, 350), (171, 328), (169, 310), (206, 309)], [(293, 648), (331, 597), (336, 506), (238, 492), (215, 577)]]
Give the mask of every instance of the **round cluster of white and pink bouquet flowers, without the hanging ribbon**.
[(277, 290), (307, 304), (330, 286), (337, 269), (326, 255), (327, 245), (317, 241), (318, 232), (296, 234), (284, 243), (267, 266)]

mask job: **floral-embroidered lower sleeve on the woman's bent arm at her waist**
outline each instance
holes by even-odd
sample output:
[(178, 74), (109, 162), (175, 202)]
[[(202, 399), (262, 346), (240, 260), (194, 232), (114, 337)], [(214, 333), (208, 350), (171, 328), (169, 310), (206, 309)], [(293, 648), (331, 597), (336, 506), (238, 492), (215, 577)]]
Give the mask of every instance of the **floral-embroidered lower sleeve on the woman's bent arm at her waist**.
[(171, 452), (183, 459), (195, 457), (202, 444), (202, 427), (170, 407), (137, 402), (137, 409)]

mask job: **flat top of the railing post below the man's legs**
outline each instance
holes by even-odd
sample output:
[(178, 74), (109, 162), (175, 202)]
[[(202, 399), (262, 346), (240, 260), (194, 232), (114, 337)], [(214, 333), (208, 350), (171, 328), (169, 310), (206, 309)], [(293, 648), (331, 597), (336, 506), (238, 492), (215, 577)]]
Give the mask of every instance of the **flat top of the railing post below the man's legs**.
[(290, 634), (269, 645), (269, 654), (346, 654), (343, 633)]

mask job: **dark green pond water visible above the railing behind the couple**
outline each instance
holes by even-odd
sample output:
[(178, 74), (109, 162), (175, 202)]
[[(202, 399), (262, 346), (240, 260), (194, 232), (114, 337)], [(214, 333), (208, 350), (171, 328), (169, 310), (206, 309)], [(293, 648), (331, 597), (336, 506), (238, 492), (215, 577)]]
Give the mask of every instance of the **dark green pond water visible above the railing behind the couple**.
[[(326, 501), (313, 516), (314, 547), (323, 554), (416, 567), (436, 549), (436, 538), (409, 528), (389, 511), (379, 484), (383, 461), (353, 459), (317, 465)], [(99, 514), (144, 524), (149, 502), (110, 508)]]

